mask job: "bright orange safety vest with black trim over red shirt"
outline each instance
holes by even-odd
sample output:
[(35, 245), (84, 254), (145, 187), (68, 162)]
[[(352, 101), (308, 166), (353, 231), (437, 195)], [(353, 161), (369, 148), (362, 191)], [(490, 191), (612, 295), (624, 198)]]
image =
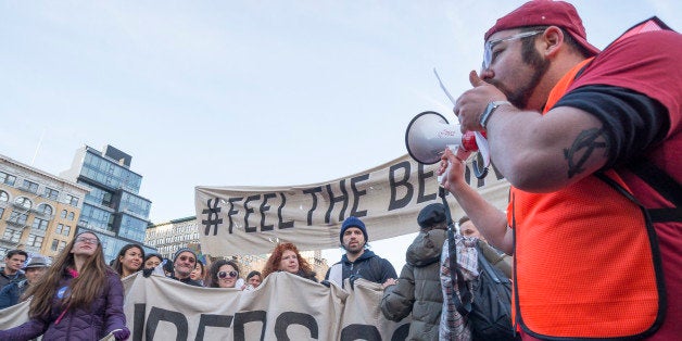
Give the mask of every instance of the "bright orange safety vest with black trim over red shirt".
[[(545, 113), (590, 61), (555, 86)], [(544, 114), (544, 113), (543, 113)], [(629, 190), (614, 171), (608, 178)], [(643, 207), (595, 175), (552, 193), (510, 189), (514, 320), (530, 336), (643, 337), (664, 318), (665, 286)]]

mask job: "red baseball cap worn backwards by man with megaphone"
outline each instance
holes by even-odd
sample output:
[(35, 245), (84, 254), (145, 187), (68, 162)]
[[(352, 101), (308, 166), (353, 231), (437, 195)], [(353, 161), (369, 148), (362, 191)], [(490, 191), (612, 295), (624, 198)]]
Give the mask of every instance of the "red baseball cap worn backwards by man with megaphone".
[(495, 26), (485, 33), (484, 38), (488, 41), (488, 38), (496, 31), (526, 26), (561, 27), (592, 55), (599, 53), (599, 49), (588, 42), (588, 34), (576, 8), (564, 1), (533, 0), (526, 2), (520, 8), (498, 18)]

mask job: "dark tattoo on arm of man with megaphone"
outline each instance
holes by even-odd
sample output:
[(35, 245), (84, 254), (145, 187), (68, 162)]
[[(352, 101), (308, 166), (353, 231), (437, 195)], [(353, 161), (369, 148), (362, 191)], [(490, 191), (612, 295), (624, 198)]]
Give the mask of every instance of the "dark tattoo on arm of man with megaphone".
[(593, 128), (581, 131), (573, 144), (564, 149), (564, 159), (568, 162), (568, 178), (585, 171), (584, 165), (597, 149), (604, 149), (604, 155), (608, 153), (608, 139), (604, 128)]

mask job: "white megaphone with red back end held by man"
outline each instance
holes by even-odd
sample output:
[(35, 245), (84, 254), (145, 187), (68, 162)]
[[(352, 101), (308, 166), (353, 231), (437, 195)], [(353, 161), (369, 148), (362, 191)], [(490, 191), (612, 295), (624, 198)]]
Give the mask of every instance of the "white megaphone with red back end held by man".
[(432, 111), (422, 112), (409, 122), (405, 146), (412, 159), (426, 165), (439, 162), (445, 148), (453, 153), (457, 148), (467, 152), (479, 149), (472, 131), (459, 132), (459, 127), (450, 125), (443, 115)]

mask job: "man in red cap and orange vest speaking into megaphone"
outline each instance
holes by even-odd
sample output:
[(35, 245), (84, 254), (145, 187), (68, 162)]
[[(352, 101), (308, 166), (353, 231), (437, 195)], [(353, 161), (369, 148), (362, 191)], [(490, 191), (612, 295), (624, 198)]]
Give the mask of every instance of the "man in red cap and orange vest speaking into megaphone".
[(682, 36), (656, 17), (604, 51), (576, 9), (530, 1), (484, 36), (483, 67), (454, 108), (485, 130), (512, 184), (506, 214), (439, 174), (485, 238), (515, 256), (526, 339), (682, 334)]

